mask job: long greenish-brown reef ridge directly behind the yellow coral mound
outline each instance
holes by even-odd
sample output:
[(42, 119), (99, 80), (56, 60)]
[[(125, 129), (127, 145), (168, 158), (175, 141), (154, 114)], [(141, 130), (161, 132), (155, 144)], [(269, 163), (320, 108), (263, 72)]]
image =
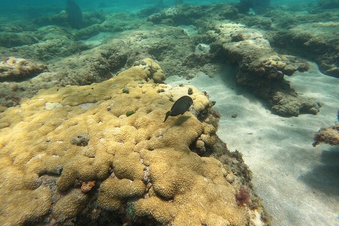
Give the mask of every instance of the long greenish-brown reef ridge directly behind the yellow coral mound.
[[(0, 96), (1, 105), (13, 106), (17, 104), (18, 99), (32, 97), (37, 90), (42, 88), (102, 82), (115, 76), (124, 67), (130, 67), (135, 61), (149, 56), (157, 56), (156, 58), (162, 62), (162, 69), (167, 72), (167, 76), (173, 74), (183, 76), (196, 73), (199, 70), (207, 71), (208, 74), (213, 72), (210, 67), (204, 69), (203, 65), (193, 68), (182, 65), (182, 56), (193, 52), (194, 40), (187, 38), (180, 28), (166, 27), (166, 29), (162, 29), (159, 27), (153, 31), (150, 30), (149, 25), (145, 25), (142, 31), (119, 33), (99, 47), (83, 51), (80, 55), (74, 54), (54, 59), (53, 57), (68, 56), (89, 48), (83, 43), (69, 41), (66, 36), (61, 28), (53, 27), (53, 32), (46, 36), (46, 42), (17, 48), (18, 52), (14, 56), (27, 56), (34, 61), (48, 60), (51, 72), (41, 73), (29, 82), (20, 84), (0, 83), (1, 93), (6, 96), (6, 99)], [(181, 40), (180, 45), (176, 44), (176, 39)], [(13, 53), (9, 51), (5, 55), (9, 54)], [(162, 69), (158, 70), (157, 64), (151, 65), (151, 67), (151, 78), (155, 82), (161, 83), (165, 78)], [(15, 87), (23, 87), (24, 90), (16, 89), (13, 92)]]

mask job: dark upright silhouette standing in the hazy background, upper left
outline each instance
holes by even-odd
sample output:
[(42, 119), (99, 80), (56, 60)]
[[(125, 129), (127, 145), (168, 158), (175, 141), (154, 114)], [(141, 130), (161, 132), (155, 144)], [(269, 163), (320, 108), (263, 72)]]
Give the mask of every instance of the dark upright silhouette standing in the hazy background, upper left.
[(71, 28), (80, 29), (84, 27), (83, 13), (75, 1), (66, 0), (66, 13)]

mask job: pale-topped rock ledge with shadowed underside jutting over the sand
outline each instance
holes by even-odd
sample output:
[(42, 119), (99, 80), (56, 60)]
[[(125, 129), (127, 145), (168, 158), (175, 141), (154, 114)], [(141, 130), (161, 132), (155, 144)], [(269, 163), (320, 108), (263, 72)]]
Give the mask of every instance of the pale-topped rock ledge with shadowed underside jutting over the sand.
[(242, 24), (223, 24), (219, 32), (224, 53), (239, 64), (238, 84), (250, 87), (255, 94), (267, 99), (279, 115), (317, 114), (321, 103), (299, 96), (284, 81), (284, 75), (307, 71), (306, 61), (277, 54), (260, 32)]

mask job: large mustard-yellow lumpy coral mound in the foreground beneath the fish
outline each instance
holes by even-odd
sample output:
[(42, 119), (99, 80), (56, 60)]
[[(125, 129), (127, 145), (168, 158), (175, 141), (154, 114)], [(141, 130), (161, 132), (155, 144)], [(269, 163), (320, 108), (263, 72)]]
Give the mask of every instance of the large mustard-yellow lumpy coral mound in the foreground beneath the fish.
[[(225, 162), (238, 162), (231, 166), (192, 152), (208, 152), (217, 142), (210, 118), (197, 118), (210, 109), (208, 98), (193, 86), (155, 84), (154, 68), (162, 71), (145, 59), (102, 83), (40, 90), (0, 114), (1, 225), (99, 225), (108, 213), (104, 222), (254, 225), (260, 219), (259, 204), (237, 204), (235, 194), (250, 178), (236, 173), (246, 167), (235, 155), (223, 149), (223, 158), (230, 154)], [(163, 123), (169, 98), (189, 88), (191, 110)]]

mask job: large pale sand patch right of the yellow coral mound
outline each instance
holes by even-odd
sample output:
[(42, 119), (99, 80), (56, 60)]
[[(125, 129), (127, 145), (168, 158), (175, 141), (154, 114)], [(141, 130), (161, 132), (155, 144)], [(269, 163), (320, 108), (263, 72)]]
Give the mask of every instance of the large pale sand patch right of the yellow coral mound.
[[(190, 84), (207, 91), (221, 120), (218, 136), (239, 150), (253, 172), (252, 182), (273, 225), (339, 225), (339, 148), (312, 146), (321, 127), (331, 126), (339, 108), (339, 79), (321, 74), (314, 63), (308, 72), (296, 72), (292, 88), (320, 100), (318, 115), (283, 118), (272, 114), (265, 101), (235, 83), (235, 71), (209, 78), (166, 80), (172, 86)], [(232, 115), (237, 114), (237, 118)]]

